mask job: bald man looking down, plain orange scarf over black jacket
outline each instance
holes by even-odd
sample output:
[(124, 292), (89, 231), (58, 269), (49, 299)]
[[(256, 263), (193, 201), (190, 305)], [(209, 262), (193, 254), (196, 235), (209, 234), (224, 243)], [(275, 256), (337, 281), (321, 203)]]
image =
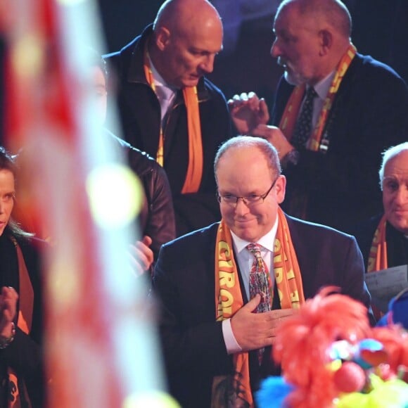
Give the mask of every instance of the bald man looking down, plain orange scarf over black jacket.
[(167, 172), (177, 235), (219, 219), (212, 162), (231, 121), (224, 95), (204, 75), (222, 35), (209, 1), (167, 0), (139, 37), (106, 56), (125, 139)]

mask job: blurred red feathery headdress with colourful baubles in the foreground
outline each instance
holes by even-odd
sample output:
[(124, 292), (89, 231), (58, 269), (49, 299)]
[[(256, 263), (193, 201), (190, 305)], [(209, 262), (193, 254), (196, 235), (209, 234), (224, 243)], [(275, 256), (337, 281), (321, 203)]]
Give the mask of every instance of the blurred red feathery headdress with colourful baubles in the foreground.
[(359, 302), (327, 287), (281, 325), (274, 359), (283, 376), (257, 393), (260, 408), (406, 407), (408, 333), (371, 329)]

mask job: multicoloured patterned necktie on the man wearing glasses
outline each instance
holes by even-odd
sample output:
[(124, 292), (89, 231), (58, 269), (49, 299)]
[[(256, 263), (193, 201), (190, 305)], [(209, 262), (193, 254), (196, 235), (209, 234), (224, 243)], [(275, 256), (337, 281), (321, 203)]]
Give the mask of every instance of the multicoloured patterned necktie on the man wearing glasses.
[(272, 310), (271, 280), (269, 279), (267, 265), (261, 256), (261, 246), (257, 243), (250, 243), (247, 248), (254, 256), (253, 265), (249, 274), (250, 298), (252, 299), (257, 293), (260, 293), (261, 301), (257, 306), (256, 312), (268, 312), (269, 310)]

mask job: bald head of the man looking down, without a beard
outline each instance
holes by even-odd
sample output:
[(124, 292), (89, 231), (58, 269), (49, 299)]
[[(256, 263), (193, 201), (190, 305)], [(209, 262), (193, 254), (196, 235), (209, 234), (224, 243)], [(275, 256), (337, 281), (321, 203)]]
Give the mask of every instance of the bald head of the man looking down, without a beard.
[(149, 52), (168, 85), (195, 87), (222, 49), (222, 23), (207, 0), (167, 0), (153, 24)]

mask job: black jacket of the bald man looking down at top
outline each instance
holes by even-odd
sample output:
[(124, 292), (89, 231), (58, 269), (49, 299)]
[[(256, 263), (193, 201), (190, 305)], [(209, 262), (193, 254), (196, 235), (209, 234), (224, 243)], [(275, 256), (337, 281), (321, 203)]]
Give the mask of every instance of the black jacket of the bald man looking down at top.
[[(106, 57), (117, 75), (117, 96), (125, 139), (155, 158), (160, 135), (160, 103), (146, 82), (143, 68), (144, 46), (152, 26), (116, 53)], [(177, 235), (218, 221), (213, 162), (217, 148), (231, 136), (227, 101), (208, 79), (198, 82), (198, 101), (203, 138), (203, 179), (197, 193), (181, 194), (189, 162), (186, 107), (182, 92), (176, 99), (164, 129), (164, 167), (172, 189)]]

